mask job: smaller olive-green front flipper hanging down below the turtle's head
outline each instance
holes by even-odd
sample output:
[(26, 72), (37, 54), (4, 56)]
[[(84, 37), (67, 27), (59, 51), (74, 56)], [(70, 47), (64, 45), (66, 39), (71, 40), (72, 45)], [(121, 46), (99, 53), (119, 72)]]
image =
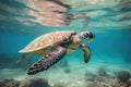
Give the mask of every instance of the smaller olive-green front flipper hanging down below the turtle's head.
[(91, 58), (91, 50), (86, 46), (82, 46), (82, 49), (83, 49), (83, 54), (84, 54), (84, 62), (87, 63)]

